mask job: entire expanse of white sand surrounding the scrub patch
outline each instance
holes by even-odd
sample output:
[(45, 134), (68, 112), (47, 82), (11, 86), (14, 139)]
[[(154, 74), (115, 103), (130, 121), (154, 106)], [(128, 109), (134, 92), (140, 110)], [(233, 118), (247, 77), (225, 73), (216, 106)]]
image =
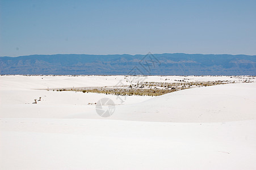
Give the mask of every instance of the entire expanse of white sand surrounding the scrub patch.
[[(125, 103), (31, 90), (114, 86), (123, 78), (0, 76), (0, 169), (256, 169), (256, 83), (128, 96)], [(117, 104), (107, 119), (87, 104), (102, 97)]]

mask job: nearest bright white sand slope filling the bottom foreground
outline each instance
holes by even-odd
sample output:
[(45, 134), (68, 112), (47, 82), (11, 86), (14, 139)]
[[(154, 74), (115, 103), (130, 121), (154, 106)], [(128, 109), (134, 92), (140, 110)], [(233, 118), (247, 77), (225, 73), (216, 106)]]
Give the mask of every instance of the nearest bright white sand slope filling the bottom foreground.
[(255, 169), (255, 121), (1, 119), (1, 169)]

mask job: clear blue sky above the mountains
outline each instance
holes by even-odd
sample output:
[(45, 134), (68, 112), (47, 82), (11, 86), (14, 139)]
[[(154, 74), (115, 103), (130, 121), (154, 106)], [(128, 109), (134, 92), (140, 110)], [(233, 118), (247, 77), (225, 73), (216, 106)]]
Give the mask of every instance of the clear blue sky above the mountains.
[(0, 0), (0, 56), (256, 55), (256, 1)]

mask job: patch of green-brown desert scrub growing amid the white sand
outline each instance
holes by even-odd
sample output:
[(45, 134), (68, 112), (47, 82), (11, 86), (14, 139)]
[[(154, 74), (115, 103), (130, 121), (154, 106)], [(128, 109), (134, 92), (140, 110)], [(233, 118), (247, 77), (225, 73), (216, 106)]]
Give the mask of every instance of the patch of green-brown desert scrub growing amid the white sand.
[[(208, 81), (208, 82), (188, 82), (186, 80), (175, 80), (175, 83), (165, 83), (165, 82), (141, 82), (133, 83), (125, 86), (104, 86), (104, 87), (80, 87), (80, 88), (60, 88), (53, 89), (56, 91), (81, 91), (83, 93), (93, 92), (106, 95), (121, 95), (121, 96), (160, 96), (167, 93), (185, 90), (188, 88), (196, 87), (206, 87), (206, 86), (215, 86), (219, 84), (229, 84), (237, 83), (235, 81), (228, 80), (217, 80), (217, 81)], [(243, 83), (250, 83), (246, 80)]]

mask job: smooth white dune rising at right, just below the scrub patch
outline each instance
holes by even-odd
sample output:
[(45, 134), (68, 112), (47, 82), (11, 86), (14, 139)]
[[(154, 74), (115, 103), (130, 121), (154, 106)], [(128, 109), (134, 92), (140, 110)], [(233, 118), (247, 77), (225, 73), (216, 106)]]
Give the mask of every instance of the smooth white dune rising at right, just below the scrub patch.
[(256, 83), (192, 88), (116, 109), (111, 118), (160, 122), (256, 120)]

